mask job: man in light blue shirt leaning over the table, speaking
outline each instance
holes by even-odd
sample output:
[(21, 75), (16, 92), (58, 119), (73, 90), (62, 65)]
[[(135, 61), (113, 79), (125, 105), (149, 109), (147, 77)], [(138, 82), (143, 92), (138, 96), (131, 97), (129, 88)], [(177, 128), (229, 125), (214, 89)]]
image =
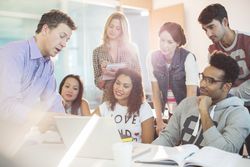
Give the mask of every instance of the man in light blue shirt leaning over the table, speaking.
[[(48, 125), (46, 121), (50, 123), (51, 113), (64, 112), (61, 96), (56, 91), (51, 58), (66, 46), (75, 29), (68, 15), (51, 10), (42, 15), (33, 37), (0, 48), (0, 131), (7, 135), (3, 141), (18, 138), (8, 138), (8, 135), (15, 128), (13, 131), (21, 133), (23, 129), (19, 131), (19, 127), (28, 121), (35, 122), (37, 119), (39, 122), (41, 118), (37, 117), (41, 112), (38, 111), (52, 111), (43, 112), (45, 117), (42, 120), (45, 122), (39, 124), (43, 127)], [(5, 131), (5, 125), (10, 129)], [(11, 129), (12, 126), (15, 128)], [(4, 143), (1, 142), (1, 145)]]

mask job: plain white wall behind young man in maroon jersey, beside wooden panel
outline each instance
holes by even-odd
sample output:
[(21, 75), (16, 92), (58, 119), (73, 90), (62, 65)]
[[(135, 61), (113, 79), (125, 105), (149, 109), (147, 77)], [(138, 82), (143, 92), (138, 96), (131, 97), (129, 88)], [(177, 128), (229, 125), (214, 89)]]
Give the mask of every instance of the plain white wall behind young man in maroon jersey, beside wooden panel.
[(193, 52), (199, 63), (200, 71), (207, 65), (207, 48), (211, 41), (202, 30), (197, 18), (207, 5), (220, 3), (225, 6), (232, 29), (250, 32), (249, 0), (154, 0), (154, 9), (184, 3), (186, 48)]

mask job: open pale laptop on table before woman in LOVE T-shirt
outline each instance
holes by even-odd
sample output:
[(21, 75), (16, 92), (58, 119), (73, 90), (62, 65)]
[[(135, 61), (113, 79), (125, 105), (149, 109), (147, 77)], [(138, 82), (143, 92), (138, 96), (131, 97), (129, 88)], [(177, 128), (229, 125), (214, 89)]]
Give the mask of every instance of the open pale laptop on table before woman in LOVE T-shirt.
[(112, 118), (57, 116), (55, 120), (66, 147), (77, 143), (77, 157), (113, 159), (112, 145), (121, 138)]

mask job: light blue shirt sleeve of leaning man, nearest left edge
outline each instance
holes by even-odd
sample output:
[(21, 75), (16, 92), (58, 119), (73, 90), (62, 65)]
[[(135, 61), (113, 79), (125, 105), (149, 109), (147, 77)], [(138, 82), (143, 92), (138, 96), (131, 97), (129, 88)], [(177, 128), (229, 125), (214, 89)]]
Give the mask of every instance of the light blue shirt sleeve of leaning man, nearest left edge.
[(25, 65), (22, 47), (25, 46), (11, 44), (0, 49), (0, 117), (3, 119), (21, 121), (30, 111), (21, 90)]

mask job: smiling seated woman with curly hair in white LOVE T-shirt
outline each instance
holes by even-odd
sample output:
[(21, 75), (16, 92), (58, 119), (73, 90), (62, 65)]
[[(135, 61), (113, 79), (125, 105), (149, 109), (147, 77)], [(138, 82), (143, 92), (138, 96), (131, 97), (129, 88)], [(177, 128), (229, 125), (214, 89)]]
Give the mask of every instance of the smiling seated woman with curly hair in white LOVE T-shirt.
[(131, 69), (119, 69), (110, 90), (110, 98), (94, 114), (113, 117), (122, 138), (151, 143), (154, 139), (153, 113), (144, 100), (141, 76)]

